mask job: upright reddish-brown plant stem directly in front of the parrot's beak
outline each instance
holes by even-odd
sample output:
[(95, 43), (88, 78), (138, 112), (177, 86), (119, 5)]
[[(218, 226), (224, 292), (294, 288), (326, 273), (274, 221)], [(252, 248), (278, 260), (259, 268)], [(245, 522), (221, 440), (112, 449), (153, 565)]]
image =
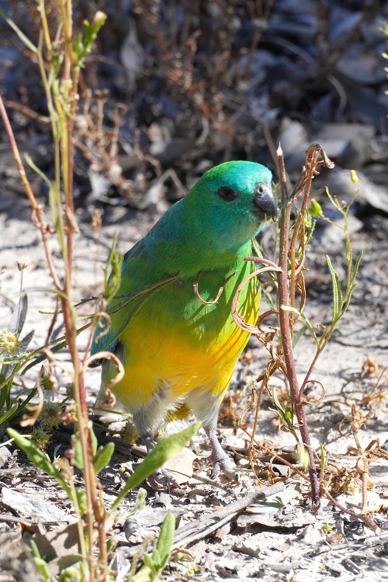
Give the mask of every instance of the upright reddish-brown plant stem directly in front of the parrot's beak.
[[(282, 149), (277, 149), (277, 158), (279, 163), (279, 176), (280, 176), (280, 186), (282, 191), (282, 215), (280, 218), (280, 256), (279, 256), (279, 267), (282, 269), (282, 273), (277, 273), (277, 279), (279, 281), (279, 324), (280, 331), (282, 333), (282, 343), (283, 343), (283, 354), (284, 361), (287, 368), (287, 378), (290, 384), (291, 397), (293, 398), (295, 404), (296, 415), (298, 419), (298, 424), (300, 428), (300, 434), (302, 442), (307, 449), (309, 456), (309, 478), (311, 483), (311, 498), (314, 508), (318, 509), (320, 505), (319, 498), (319, 481), (318, 474), (316, 472), (314, 452), (312, 450), (310, 435), (307, 426), (306, 415), (304, 407), (301, 403), (301, 391), (298, 385), (298, 378), (296, 374), (296, 367), (294, 362), (294, 353), (292, 345), (292, 336), (290, 331), (290, 315), (289, 312), (282, 309), (282, 306), (289, 306), (290, 304), (290, 293), (289, 284), (287, 279), (287, 261), (289, 257), (289, 230), (290, 230), (290, 215), (291, 215), (291, 204), (293, 202), (293, 197), (289, 196), (287, 193), (286, 185), (286, 169), (284, 168), (284, 159)], [(312, 154), (311, 164), (308, 167), (308, 178), (312, 179), (313, 169), (318, 159), (318, 151)], [(311, 183), (311, 179), (310, 182)], [(308, 187), (308, 182), (307, 186)]]

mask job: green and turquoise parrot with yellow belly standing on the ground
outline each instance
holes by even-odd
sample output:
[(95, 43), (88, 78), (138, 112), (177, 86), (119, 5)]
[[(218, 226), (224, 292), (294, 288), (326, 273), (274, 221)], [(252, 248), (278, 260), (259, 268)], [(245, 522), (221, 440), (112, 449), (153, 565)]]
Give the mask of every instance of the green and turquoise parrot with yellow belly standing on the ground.
[[(276, 219), (271, 184), (272, 173), (256, 162), (230, 161), (205, 172), (124, 254), (119, 291), (91, 343), (92, 355), (108, 350), (122, 362), (124, 375), (112, 392), (132, 415), (148, 452), (167, 412), (186, 404), (208, 436), (211, 477), (222, 471), (236, 484), (239, 473), (216, 426), (250, 336), (234, 321), (231, 304), (254, 270), (244, 261), (252, 254), (251, 239)], [(138, 293), (144, 289), (147, 293)], [(239, 314), (255, 324), (259, 303), (259, 282), (251, 278), (240, 293)], [(104, 398), (104, 386), (117, 369), (111, 359), (95, 361), (101, 363), (99, 398)], [(164, 467), (154, 478), (168, 489), (179, 487)]]

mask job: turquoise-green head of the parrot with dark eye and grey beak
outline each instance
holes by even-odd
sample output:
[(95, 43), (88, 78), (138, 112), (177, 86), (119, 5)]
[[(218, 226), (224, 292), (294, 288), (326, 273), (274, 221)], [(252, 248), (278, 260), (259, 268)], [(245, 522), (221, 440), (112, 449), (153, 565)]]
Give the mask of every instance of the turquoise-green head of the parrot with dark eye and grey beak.
[(192, 242), (238, 252), (276, 218), (271, 179), (269, 169), (255, 162), (226, 162), (206, 172), (184, 202)]

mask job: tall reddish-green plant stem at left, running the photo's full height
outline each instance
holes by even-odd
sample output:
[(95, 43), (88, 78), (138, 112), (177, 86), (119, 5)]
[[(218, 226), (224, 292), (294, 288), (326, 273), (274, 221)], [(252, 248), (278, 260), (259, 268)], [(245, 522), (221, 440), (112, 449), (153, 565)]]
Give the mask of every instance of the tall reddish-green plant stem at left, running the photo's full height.
[[(49, 270), (54, 281), (56, 293), (60, 297), (63, 319), (65, 322), (65, 337), (69, 346), (70, 357), (74, 368), (74, 400), (76, 402), (76, 423), (79, 435), (81, 451), (84, 461), (84, 480), (87, 499), (87, 540), (84, 535), (80, 512), (76, 496), (74, 503), (79, 517), (80, 551), (83, 555), (84, 573), (88, 572), (90, 581), (95, 579), (95, 563), (93, 553), (94, 541), (94, 520), (98, 523), (98, 538), (100, 548), (100, 559), (102, 566), (107, 565), (106, 555), (106, 535), (105, 535), (105, 510), (99, 498), (96, 487), (97, 480), (94, 470), (94, 453), (91, 439), (91, 424), (88, 420), (86, 389), (84, 385), (83, 366), (77, 348), (77, 328), (76, 311), (72, 306), (72, 269), (73, 269), (73, 233), (74, 233), (74, 202), (73, 202), (73, 118), (77, 103), (77, 88), (79, 80), (80, 66), (77, 56), (73, 51), (73, 4), (72, 0), (58, 0), (60, 21), (56, 31), (55, 41), (60, 41), (65, 37), (65, 49), (63, 51), (62, 75), (59, 77), (58, 61), (53, 55), (53, 44), (50, 37), (50, 29), (47, 21), (44, 0), (38, 0), (38, 11), (40, 12), (41, 31), (38, 48), (35, 48), (28, 39), (22, 40), (27, 46), (37, 54), (41, 72), (42, 83), (47, 97), (48, 109), (51, 119), (52, 134), (54, 139), (55, 155), (55, 179), (49, 191), (49, 200), (52, 215), (54, 218), (56, 235), (60, 251), (62, 253), (65, 276), (63, 284), (60, 282), (52, 256), (48, 246), (47, 225), (42, 218), (42, 207), (37, 204), (34, 194), (30, 188), (20, 154), (17, 149), (15, 137), (10, 127), (9, 119), (0, 97), (0, 112), (4, 121), (13, 155), (16, 160), (20, 179), (26, 190), (27, 198), (33, 208), (33, 221), (41, 230), (44, 243), (45, 254), (48, 261)], [(20, 31), (16, 30), (17, 34)], [(58, 44), (58, 43), (57, 43)], [(43, 48), (47, 63), (44, 62)], [(48, 68), (46, 68), (48, 67)], [(65, 206), (61, 200), (61, 178), (63, 191), (65, 193)], [(9, 381), (9, 378), (8, 378)], [(74, 494), (74, 491), (73, 491)], [(86, 546), (88, 545), (88, 548)], [(87, 553), (86, 553), (87, 549)]]

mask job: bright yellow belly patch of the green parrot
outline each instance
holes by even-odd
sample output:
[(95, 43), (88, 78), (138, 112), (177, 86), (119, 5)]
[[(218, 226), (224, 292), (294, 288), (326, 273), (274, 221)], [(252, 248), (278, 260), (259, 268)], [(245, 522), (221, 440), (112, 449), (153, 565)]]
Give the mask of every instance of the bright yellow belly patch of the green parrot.
[(172, 326), (145, 330), (138, 321), (129, 326), (122, 338), (125, 374), (114, 388), (129, 410), (148, 402), (160, 387), (169, 389), (173, 400), (194, 388), (226, 390), (247, 333), (234, 324), (232, 333), (220, 335), (218, 342), (195, 345), (190, 339)]

